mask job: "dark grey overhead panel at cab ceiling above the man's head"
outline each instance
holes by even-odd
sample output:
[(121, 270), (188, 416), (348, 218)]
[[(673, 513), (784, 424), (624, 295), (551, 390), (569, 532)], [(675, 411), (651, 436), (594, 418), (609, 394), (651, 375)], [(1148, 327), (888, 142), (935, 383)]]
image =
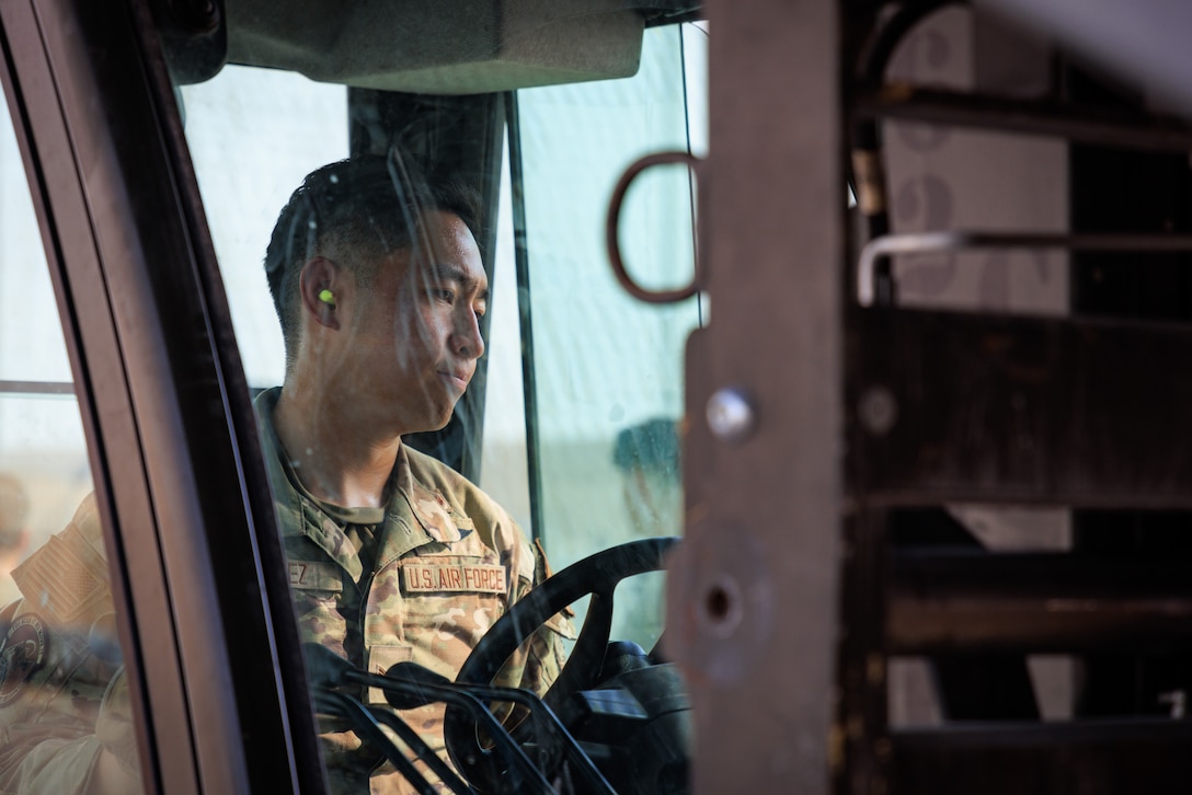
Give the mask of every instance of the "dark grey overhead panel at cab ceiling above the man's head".
[(644, 20), (625, 0), (226, 0), (228, 61), (311, 80), (480, 94), (628, 77)]

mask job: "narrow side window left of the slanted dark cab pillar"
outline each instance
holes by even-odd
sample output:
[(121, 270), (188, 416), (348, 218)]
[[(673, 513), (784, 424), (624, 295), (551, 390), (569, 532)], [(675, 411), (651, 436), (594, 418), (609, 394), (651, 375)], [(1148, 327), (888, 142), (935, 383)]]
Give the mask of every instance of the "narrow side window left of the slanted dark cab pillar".
[(142, 791), (79, 400), (0, 99), (0, 790)]

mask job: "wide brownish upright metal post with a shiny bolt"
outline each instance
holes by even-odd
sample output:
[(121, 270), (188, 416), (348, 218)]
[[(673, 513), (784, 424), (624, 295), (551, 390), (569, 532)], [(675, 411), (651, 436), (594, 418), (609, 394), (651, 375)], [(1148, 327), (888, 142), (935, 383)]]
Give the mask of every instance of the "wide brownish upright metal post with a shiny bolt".
[[(838, 4), (710, 0), (687, 542), (668, 640), (697, 793), (830, 788), (842, 527)], [(836, 756), (838, 759), (838, 756)]]

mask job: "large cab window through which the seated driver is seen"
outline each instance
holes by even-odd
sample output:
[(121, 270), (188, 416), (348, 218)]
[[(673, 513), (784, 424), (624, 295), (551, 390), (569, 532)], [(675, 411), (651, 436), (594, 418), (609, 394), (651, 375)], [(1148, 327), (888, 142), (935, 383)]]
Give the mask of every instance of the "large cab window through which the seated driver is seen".
[[(397, 17), (377, 24), (399, 25)], [(483, 74), (401, 63), (375, 30), (364, 31), (350, 75), (329, 70), (335, 58), (291, 57), (263, 33), (241, 33), (231, 63), (178, 86), (256, 395), (299, 631), (355, 669), (402, 678), (414, 663), (454, 681), (489, 627), (552, 571), (682, 532), (683, 350), (708, 308), (700, 296), (631, 297), (604, 240), (631, 163), (706, 149), (708, 33), (690, 23), (642, 30), (631, 17), (560, 29), (546, 55), (559, 64), (507, 61)], [(428, 36), (426, 48), (440, 51), (411, 57), (467, 61), (467, 36)], [(597, 44), (609, 63), (567, 70)], [(631, 63), (635, 44), (640, 62)], [(305, 193), (294, 194), (304, 179)], [(361, 198), (377, 185), (389, 195)], [(645, 172), (626, 195), (620, 251), (647, 290), (693, 279), (695, 190), (694, 175), (672, 164)], [(621, 576), (619, 560), (589, 570), (579, 586)], [(596, 681), (569, 688), (613, 688), (617, 665), (665, 660), (663, 589), (662, 572), (616, 588), (609, 635), (625, 641), (620, 657), (589, 663)], [(545, 694), (565, 659), (591, 656), (575, 648), (588, 611), (579, 600), (540, 616), (532, 638), (508, 662), (513, 648), (498, 652), (499, 671), (480, 678)], [(375, 713), (383, 689), (358, 682), (353, 695)], [(374, 782), (445, 780), (434, 764), (410, 774), (385, 759), (380, 741), (317, 687), (315, 701), (333, 791), (370, 771)], [(406, 757), (424, 740), (465, 778), (490, 775), (443, 747), (441, 702), (403, 706), (397, 714), (416, 737), (381, 731)], [(589, 750), (603, 743), (616, 753), (627, 744), (607, 737), (610, 727), (659, 718), (648, 704), (648, 721), (552, 706)], [(522, 709), (493, 706), (507, 726)], [(687, 743), (685, 729), (668, 731), (663, 741)], [(663, 771), (601, 772), (664, 791), (659, 782), (681, 785), (684, 753), (656, 753)], [(516, 765), (510, 775), (533, 780)], [(551, 785), (566, 790), (559, 781)]]

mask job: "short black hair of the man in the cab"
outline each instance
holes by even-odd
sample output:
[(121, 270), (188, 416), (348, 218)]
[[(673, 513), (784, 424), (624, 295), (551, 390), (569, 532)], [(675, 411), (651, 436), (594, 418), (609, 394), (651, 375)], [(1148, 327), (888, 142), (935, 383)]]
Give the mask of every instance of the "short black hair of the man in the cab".
[(265, 254), (287, 369), (297, 353), (302, 267), (313, 256), (336, 259), (334, 251), (350, 250), (353, 256), (337, 263), (367, 286), (370, 268), (410, 248), (422, 213), (436, 210), (454, 213), (482, 240), (476, 190), (399, 150), (356, 155), (306, 175), (278, 216)]

